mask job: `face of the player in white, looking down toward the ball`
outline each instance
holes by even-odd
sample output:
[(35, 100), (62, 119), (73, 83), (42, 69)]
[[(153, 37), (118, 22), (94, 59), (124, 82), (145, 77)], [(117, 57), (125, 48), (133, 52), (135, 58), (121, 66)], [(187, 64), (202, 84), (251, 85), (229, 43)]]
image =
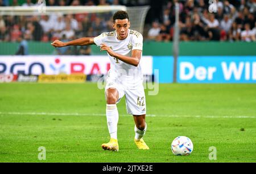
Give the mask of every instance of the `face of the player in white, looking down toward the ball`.
[(130, 22), (128, 19), (116, 19), (114, 21), (113, 28), (117, 31), (117, 39), (124, 40), (128, 36)]

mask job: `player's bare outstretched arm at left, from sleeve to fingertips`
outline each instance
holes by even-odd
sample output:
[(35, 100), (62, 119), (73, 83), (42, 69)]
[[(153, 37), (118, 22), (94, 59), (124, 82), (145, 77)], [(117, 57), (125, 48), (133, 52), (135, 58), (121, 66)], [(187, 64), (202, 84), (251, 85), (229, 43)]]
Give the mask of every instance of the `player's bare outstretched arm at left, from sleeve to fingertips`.
[(93, 44), (95, 44), (93, 37), (82, 37), (80, 39), (72, 40), (67, 43), (63, 43), (59, 40), (55, 40), (53, 41), (53, 43), (51, 43), (51, 45), (55, 47), (63, 47), (63, 46), (71, 46), (71, 45), (93, 45)]

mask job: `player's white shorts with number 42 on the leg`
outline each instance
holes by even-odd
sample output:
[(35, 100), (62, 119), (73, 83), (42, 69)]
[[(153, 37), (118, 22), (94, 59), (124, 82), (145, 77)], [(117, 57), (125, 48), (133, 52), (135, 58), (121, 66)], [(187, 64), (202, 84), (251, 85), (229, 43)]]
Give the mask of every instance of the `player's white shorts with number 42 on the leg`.
[(143, 115), (146, 114), (146, 97), (143, 84), (134, 89), (124, 87), (114, 79), (108, 79), (105, 87), (105, 94), (108, 88), (115, 88), (118, 91), (119, 97), (117, 103), (125, 95), (126, 110), (128, 114)]

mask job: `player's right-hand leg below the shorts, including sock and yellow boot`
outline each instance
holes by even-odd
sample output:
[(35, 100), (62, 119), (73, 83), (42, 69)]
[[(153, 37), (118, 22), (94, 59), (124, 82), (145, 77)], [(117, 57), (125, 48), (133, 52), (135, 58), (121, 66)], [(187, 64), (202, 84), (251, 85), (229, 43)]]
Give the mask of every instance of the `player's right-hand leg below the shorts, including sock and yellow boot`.
[(148, 150), (149, 147), (146, 145), (146, 143), (143, 140), (143, 136), (146, 133), (147, 130), (147, 124), (145, 121), (146, 118), (146, 114), (143, 114), (141, 116), (136, 116), (133, 115), (134, 118), (134, 122), (135, 122), (135, 127), (134, 127), (134, 131), (135, 131), (135, 138), (134, 138), (134, 142), (137, 145), (137, 147), (139, 149), (142, 150)]

